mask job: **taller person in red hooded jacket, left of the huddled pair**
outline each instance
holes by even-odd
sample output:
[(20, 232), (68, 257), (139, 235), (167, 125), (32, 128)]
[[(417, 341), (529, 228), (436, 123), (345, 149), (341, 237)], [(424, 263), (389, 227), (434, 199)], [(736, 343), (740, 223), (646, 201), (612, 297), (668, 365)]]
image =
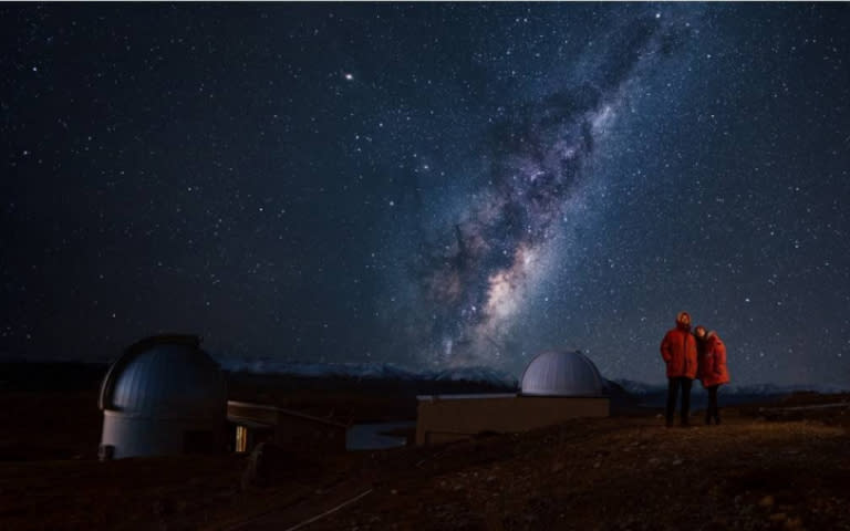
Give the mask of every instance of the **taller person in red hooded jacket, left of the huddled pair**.
[(678, 312), (676, 327), (661, 342), (661, 357), (667, 364), (667, 427), (673, 426), (678, 389), (682, 389), (682, 426), (688, 426), (691, 385), (696, 377), (696, 340), (691, 334), (691, 315)]

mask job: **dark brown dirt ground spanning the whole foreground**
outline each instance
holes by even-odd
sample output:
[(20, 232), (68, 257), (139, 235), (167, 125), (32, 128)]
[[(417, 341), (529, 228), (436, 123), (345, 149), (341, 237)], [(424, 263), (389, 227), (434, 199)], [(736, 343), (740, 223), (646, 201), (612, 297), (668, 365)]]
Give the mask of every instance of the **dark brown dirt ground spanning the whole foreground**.
[(96, 394), (66, 395), (0, 394), (0, 529), (287, 530), (355, 498), (299, 529), (850, 529), (850, 408), (807, 408), (847, 396), (727, 408), (722, 426), (667, 429), (649, 412), (293, 455), (242, 490), (239, 456), (97, 462)]

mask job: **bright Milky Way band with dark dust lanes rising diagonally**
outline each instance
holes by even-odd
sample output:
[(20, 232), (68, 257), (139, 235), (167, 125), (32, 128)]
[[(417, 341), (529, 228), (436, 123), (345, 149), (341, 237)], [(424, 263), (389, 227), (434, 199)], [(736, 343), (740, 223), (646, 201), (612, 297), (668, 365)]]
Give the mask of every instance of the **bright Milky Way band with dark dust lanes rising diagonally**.
[(517, 105), (487, 134), (488, 181), (454, 226), (453, 241), (421, 264), (414, 312), (428, 330), (414, 345), (438, 364), (511, 363), (512, 319), (546, 275), (558, 221), (587, 192), (587, 162), (644, 69), (662, 66), (684, 24), (629, 18), (605, 35), (572, 83)]

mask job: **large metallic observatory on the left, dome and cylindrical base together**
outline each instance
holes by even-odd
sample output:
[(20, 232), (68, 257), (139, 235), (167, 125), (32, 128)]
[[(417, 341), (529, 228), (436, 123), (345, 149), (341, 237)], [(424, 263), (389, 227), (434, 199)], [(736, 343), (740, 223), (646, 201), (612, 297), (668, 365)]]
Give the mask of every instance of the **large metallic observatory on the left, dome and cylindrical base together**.
[(215, 451), (227, 415), (225, 378), (195, 335), (129, 346), (101, 385), (102, 458)]

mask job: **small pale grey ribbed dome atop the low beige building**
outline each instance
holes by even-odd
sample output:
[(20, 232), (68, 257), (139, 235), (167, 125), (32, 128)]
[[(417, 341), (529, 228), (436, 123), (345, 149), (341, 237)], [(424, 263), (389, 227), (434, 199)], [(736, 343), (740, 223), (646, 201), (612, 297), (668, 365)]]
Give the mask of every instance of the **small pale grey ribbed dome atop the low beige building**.
[(600, 396), (602, 377), (579, 351), (538, 354), (522, 373), (522, 394), (539, 396)]

